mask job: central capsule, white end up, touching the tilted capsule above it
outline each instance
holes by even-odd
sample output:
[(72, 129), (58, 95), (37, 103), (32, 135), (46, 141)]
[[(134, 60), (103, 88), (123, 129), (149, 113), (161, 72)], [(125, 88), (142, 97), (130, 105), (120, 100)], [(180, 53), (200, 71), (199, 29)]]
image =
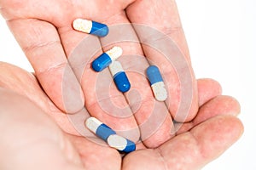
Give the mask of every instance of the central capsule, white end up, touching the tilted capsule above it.
[(127, 92), (131, 88), (131, 84), (125, 71), (119, 61), (113, 61), (109, 65), (109, 70), (113, 76), (113, 81), (120, 92)]

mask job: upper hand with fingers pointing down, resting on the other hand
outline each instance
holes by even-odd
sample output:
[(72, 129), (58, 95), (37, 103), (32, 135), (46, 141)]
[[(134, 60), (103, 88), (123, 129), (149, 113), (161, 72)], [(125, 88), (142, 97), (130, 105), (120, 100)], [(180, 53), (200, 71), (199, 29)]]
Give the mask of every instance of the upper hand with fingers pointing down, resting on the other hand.
[[(163, 144), (175, 135), (172, 132), (172, 117), (176, 122), (189, 122), (195, 118), (199, 107), (197, 86), (190, 65), (189, 51), (178, 17), (177, 7), (173, 0), (0, 0), (0, 7), (1, 14), (7, 20), (9, 28), (13, 31), (15, 38), (20, 43), (20, 47), (31, 62), (35, 75), (40, 85), (44, 88), (44, 92), (62, 111), (68, 113), (80, 111), (84, 106), (85, 99), (85, 107), (91, 116), (96, 116), (119, 132), (133, 129), (129, 135), (127, 133), (124, 135), (133, 141), (143, 139), (143, 144), (150, 148)], [(182, 111), (181, 109), (178, 113), (179, 106), (183, 105), (181, 99), (183, 89), (180, 87), (180, 79), (176, 72), (177, 68), (174, 68), (162, 54), (153, 48), (133, 42), (115, 43), (115, 45), (124, 50), (124, 57), (119, 60), (125, 69), (130, 70), (127, 74), (131, 82), (131, 93), (120, 94), (116, 88), (111, 86), (111, 96), (104, 94), (101, 98), (98, 98), (96, 92), (109, 91), (108, 82), (112, 81), (109, 72), (103, 71), (97, 74), (91, 71), (90, 66), (86, 65), (83, 74), (78, 75), (75, 71), (77, 68), (68, 64), (67, 57), (73, 54), (73, 50), (84, 37), (90, 37), (94, 47), (107, 50), (109, 48), (108, 37), (113, 37), (118, 32), (110, 30), (108, 37), (98, 39), (97, 37), (74, 31), (72, 22), (77, 18), (96, 20), (108, 26), (126, 23), (128, 26), (125, 27), (125, 31), (121, 30), (119, 34), (123, 32), (123, 35), (129, 35), (133, 39), (146, 38), (150, 43), (156, 43), (163, 37), (145, 35), (137, 27), (133, 28), (130, 21), (150, 26), (171, 37), (177, 47), (171, 46), (170, 48), (179, 48), (181, 50), (183, 55), (178, 55), (177, 58), (183, 59), (187, 64), (187, 69), (189, 69), (189, 78), (191, 79), (189, 88), (191, 88), (192, 94), (191, 99), (189, 99), (191, 106), (189, 110)], [(165, 44), (163, 45), (165, 46)], [(99, 54), (102, 54), (102, 50), (94, 54), (92, 59), (95, 59)], [(133, 55), (135, 58), (130, 59), (127, 55)], [(142, 57), (144, 55), (146, 58)], [(173, 56), (175, 55), (177, 54), (173, 54)], [(86, 60), (91, 62), (92, 59)], [(148, 67), (148, 60), (154, 65), (160, 66), (162, 76), (165, 78), (166, 88), (170, 96), (166, 104), (155, 101), (146, 77), (131, 72), (139, 71), (143, 73)], [(97, 75), (104, 75), (107, 78), (102, 79), (101, 86), (95, 90), (95, 87), (99, 84), (96, 83), (98, 81), (96, 79)], [(139, 99), (137, 96), (139, 96)], [(121, 113), (110, 111), (111, 114), (122, 114), (125, 118), (120, 119), (102, 110), (102, 105), (107, 105), (107, 110), (112, 110), (112, 106), (108, 106), (110, 101), (121, 108), (126, 108)], [(143, 126), (151, 115), (164, 120), (155, 132), (155, 128), (152, 132), (149, 130), (152, 129), (152, 123)], [(154, 122), (157, 121), (154, 120)], [(141, 129), (137, 128), (138, 125)]]

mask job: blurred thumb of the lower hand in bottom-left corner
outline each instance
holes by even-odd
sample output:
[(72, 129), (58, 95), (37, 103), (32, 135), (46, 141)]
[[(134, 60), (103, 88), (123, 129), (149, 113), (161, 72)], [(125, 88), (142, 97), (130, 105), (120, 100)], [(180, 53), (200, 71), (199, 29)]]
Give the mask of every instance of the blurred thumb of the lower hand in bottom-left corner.
[(83, 169), (61, 129), (23, 96), (0, 88), (0, 169)]

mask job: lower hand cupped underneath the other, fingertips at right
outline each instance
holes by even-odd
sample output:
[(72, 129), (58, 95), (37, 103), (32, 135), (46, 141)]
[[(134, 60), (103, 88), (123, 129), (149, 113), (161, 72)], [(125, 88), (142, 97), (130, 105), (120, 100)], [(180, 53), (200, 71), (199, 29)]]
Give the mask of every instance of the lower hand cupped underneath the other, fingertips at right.
[[(155, 149), (123, 159), (118, 151), (75, 133), (30, 73), (0, 63), (1, 169), (198, 169), (222, 154), (241, 136), (236, 99), (219, 95), (218, 82), (198, 80), (200, 110), (176, 136)], [(18, 86), (17, 86), (18, 85)], [(49, 116), (68, 131), (61, 131)], [(178, 123), (174, 124), (178, 127)]]

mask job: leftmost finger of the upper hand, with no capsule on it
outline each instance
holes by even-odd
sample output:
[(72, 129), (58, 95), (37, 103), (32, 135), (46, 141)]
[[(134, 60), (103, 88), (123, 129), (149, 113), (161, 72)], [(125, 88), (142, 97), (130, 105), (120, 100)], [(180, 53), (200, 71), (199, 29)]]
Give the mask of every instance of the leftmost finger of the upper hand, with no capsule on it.
[(80, 111), (84, 94), (67, 62), (55, 26), (36, 19), (9, 20), (8, 25), (49, 98), (62, 111)]

